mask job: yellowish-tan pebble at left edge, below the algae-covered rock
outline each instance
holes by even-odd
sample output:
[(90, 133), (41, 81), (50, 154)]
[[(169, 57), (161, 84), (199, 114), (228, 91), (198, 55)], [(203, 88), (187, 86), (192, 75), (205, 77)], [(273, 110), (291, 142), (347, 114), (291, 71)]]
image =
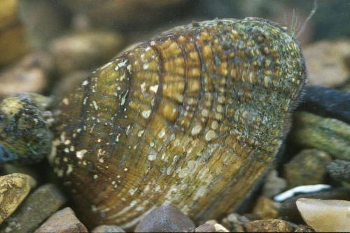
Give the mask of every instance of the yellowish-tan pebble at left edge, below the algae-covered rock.
[(26, 174), (0, 176), (0, 223), (17, 209), (35, 185), (34, 178)]

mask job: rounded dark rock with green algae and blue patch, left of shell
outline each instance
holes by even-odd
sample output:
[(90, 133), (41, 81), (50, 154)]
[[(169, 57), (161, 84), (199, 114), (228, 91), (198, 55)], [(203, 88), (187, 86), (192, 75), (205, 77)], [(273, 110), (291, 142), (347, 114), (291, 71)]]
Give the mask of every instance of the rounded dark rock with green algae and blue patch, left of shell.
[(15, 94), (0, 103), (0, 162), (34, 163), (50, 153), (48, 97)]

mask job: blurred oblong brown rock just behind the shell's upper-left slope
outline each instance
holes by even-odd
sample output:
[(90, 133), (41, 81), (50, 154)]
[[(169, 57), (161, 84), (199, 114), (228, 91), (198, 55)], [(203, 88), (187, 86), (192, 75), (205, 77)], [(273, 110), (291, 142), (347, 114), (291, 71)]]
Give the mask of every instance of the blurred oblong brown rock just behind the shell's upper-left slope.
[(115, 56), (123, 38), (114, 31), (86, 31), (66, 34), (52, 41), (49, 50), (61, 73), (94, 69)]

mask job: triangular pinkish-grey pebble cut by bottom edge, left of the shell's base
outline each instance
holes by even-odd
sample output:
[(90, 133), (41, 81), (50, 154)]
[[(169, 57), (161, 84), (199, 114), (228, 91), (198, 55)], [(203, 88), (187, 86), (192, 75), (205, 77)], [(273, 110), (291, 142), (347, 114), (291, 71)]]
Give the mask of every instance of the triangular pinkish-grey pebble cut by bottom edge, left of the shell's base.
[(57, 232), (57, 233), (71, 233), (71, 232), (87, 232), (83, 223), (76, 218), (75, 213), (70, 207), (66, 207), (56, 213), (52, 214), (48, 220), (45, 221), (34, 233), (41, 232)]

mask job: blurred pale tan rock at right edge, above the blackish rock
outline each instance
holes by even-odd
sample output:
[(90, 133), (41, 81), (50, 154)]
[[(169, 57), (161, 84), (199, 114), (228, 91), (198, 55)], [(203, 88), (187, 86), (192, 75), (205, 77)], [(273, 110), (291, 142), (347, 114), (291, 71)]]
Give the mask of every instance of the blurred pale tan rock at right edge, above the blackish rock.
[(350, 42), (319, 41), (302, 50), (307, 62), (310, 85), (335, 87), (349, 78), (344, 59), (350, 54)]

